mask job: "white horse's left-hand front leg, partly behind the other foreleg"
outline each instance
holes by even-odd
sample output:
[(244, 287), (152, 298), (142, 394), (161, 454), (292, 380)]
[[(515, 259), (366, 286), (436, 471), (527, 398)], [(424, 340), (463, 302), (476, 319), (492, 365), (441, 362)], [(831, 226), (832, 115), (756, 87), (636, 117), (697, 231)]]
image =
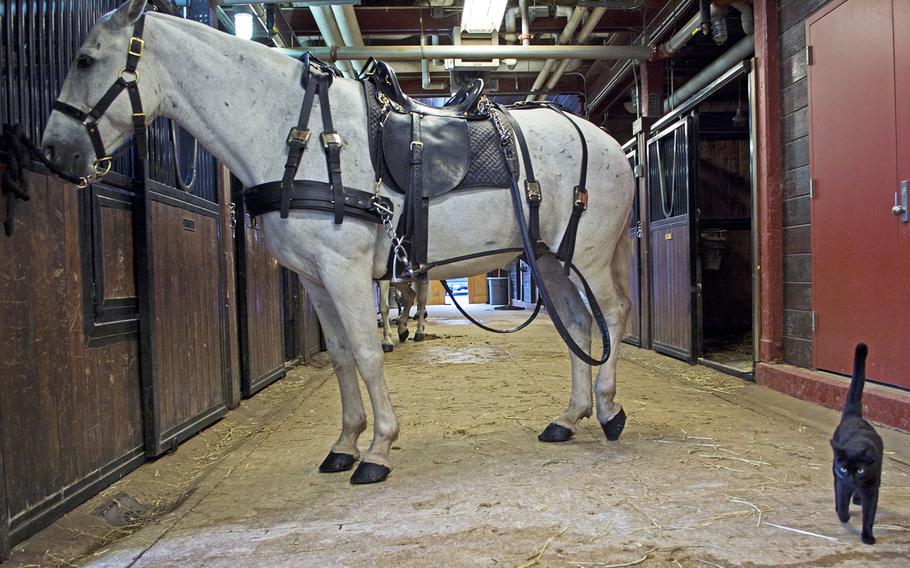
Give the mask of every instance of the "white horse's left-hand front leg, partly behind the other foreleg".
[(319, 471), (323, 473), (347, 471), (360, 458), (357, 438), (367, 427), (360, 385), (357, 383), (357, 365), (344, 328), (338, 320), (338, 312), (325, 288), (304, 279), (301, 281), (319, 315), (319, 323), (341, 392), (341, 434), (332, 444), (332, 450), (319, 466)]

